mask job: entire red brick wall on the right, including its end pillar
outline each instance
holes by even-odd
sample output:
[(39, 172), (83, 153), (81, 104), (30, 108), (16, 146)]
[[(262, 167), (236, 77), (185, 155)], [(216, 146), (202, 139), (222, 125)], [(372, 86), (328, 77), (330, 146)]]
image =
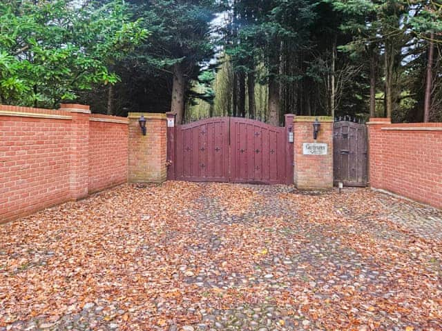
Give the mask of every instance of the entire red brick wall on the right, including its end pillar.
[(370, 119), (369, 183), (442, 208), (442, 123)]

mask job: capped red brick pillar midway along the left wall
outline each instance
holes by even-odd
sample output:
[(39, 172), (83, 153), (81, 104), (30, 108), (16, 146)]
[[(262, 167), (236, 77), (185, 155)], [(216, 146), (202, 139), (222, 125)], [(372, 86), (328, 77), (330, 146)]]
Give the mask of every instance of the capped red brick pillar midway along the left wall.
[(79, 200), (88, 196), (89, 180), (89, 106), (62, 104), (60, 110), (70, 112), (70, 199)]

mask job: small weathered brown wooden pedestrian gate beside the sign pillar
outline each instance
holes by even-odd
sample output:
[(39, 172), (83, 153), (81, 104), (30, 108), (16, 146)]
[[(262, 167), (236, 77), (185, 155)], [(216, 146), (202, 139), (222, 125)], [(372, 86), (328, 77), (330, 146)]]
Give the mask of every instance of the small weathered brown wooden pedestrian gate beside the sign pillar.
[(337, 121), (333, 126), (334, 183), (367, 185), (367, 128), (353, 121)]

